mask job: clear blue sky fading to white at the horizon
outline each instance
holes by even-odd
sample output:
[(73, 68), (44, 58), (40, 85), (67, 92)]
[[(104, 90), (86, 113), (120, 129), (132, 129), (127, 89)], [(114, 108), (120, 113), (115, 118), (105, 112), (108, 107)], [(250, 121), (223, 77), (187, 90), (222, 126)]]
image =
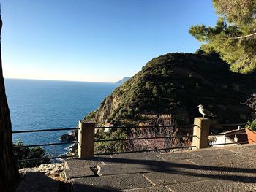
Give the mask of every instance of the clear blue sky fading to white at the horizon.
[(211, 0), (1, 0), (4, 77), (116, 82), (151, 58), (200, 47)]

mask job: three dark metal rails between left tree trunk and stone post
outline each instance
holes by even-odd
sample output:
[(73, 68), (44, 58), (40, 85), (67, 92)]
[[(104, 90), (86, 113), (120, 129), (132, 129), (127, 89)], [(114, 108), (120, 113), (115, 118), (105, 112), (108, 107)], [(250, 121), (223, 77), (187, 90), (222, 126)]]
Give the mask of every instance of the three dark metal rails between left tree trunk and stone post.
[[(49, 128), (49, 129), (37, 129), (37, 130), (24, 130), (24, 131), (12, 131), (12, 134), (26, 134), (26, 133), (34, 133), (34, 132), (46, 132), (46, 131), (74, 131), (78, 128)], [(42, 147), (42, 146), (50, 146), (50, 145), (68, 145), (68, 144), (76, 144), (78, 142), (55, 142), (55, 143), (43, 143), (36, 145), (16, 145), (13, 146), (14, 149), (24, 148), (24, 147)], [(56, 159), (56, 158), (72, 158), (78, 157), (78, 155), (67, 155), (67, 156), (51, 156), (47, 158), (26, 158), (26, 159), (18, 159), (17, 162), (24, 161), (42, 161), (48, 159)]]

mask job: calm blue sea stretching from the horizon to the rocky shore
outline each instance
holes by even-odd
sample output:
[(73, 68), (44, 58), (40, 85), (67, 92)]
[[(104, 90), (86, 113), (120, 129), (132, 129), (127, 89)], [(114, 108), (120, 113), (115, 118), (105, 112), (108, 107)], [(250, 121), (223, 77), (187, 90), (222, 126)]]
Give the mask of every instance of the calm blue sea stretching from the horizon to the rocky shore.
[[(53, 80), (5, 79), (12, 131), (75, 128), (78, 120), (96, 110), (101, 101), (118, 86), (104, 82), (69, 82)], [(61, 142), (68, 131), (13, 134), (24, 145)], [(50, 155), (67, 152), (69, 145), (44, 147)]]

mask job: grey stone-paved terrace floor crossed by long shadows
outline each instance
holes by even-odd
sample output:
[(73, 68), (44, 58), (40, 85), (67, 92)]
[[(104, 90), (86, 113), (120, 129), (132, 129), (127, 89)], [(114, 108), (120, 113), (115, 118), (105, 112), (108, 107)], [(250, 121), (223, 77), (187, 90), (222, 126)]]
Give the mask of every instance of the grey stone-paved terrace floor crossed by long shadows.
[(256, 191), (256, 145), (69, 159), (74, 191)]

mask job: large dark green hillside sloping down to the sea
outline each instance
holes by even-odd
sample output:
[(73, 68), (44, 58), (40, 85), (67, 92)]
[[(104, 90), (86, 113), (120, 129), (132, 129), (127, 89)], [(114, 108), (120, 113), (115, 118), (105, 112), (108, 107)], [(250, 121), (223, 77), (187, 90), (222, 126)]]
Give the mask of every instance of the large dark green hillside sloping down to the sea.
[(195, 107), (203, 104), (219, 123), (241, 123), (250, 111), (240, 102), (252, 94), (254, 82), (255, 74), (230, 72), (217, 55), (168, 53), (149, 61), (85, 119), (138, 124), (165, 114), (186, 124), (200, 116)]

